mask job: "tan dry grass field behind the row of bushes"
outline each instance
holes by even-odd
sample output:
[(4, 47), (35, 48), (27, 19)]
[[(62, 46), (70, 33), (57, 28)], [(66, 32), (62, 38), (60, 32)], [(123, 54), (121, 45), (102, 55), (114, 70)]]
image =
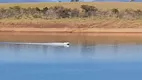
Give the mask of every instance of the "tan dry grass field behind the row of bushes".
[(112, 9), (118, 8), (120, 10), (131, 8), (131, 9), (141, 9), (142, 2), (48, 2), (48, 3), (1, 3), (0, 8), (8, 8), (12, 6), (21, 6), (23, 8), (28, 7), (51, 7), (51, 6), (63, 6), (66, 8), (77, 8), (80, 9), (81, 5), (91, 5), (98, 9)]

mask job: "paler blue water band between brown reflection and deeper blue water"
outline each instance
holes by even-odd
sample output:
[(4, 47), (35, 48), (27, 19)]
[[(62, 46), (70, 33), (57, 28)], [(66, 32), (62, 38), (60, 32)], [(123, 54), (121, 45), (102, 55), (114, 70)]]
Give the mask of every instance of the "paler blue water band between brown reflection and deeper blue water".
[(142, 45), (139, 44), (97, 44), (42, 46), (2, 44), (1, 61), (50, 62), (50, 61), (142, 61)]

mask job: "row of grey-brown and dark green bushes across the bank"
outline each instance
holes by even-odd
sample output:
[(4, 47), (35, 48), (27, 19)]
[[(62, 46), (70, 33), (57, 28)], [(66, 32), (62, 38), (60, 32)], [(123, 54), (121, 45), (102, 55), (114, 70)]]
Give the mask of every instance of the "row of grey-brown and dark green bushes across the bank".
[(119, 19), (142, 19), (142, 11), (140, 9), (119, 10), (112, 8), (109, 10), (100, 10), (95, 6), (81, 5), (81, 9), (65, 8), (63, 6), (53, 6), (44, 8), (22, 8), (14, 6), (9, 8), (0, 8), (0, 19), (61, 19), (61, 18), (119, 18)]

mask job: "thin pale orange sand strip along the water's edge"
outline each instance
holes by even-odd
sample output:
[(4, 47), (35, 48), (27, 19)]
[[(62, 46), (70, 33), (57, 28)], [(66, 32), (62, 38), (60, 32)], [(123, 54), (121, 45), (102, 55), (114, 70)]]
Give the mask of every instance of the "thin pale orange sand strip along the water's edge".
[(0, 28), (1, 32), (39, 33), (142, 33), (142, 28)]

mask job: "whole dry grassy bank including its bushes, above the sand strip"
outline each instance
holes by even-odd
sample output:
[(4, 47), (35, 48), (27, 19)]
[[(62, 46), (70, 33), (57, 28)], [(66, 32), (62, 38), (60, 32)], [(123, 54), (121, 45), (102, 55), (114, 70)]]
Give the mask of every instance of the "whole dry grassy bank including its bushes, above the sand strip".
[(142, 3), (0, 4), (0, 27), (142, 28)]

